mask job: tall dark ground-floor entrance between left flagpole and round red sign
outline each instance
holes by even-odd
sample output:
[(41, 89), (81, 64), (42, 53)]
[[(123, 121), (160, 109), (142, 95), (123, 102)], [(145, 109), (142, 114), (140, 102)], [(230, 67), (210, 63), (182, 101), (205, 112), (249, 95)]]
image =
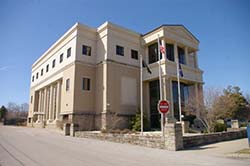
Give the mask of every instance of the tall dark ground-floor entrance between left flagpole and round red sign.
[(161, 115), (157, 109), (160, 99), (159, 80), (149, 82), (150, 124), (151, 129), (160, 129)]

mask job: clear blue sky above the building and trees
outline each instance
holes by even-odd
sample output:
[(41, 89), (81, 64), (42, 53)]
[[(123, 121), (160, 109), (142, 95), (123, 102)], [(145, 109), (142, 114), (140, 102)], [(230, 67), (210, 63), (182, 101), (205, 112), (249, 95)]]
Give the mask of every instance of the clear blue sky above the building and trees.
[(0, 105), (28, 102), (31, 65), (75, 22), (105, 21), (140, 33), (183, 24), (200, 40), (205, 87), (250, 93), (248, 0), (1, 0)]

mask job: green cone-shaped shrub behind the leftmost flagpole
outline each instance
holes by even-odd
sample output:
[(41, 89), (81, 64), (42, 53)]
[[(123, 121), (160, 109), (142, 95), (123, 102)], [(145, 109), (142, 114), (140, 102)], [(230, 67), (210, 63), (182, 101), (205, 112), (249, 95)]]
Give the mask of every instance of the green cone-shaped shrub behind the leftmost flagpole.
[[(141, 131), (141, 112), (138, 110), (134, 117), (130, 120), (130, 129), (133, 131)], [(143, 116), (143, 130), (147, 131), (149, 130), (149, 123), (148, 120), (144, 114)]]

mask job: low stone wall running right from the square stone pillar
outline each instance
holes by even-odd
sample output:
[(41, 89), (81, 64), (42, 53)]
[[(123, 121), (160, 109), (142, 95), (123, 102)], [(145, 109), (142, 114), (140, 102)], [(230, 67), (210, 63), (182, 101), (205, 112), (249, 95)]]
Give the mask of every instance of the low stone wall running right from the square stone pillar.
[(247, 136), (246, 129), (240, 129), (238, 131), (212, 133), (212, 134), (183, 136), (183, 147), (190, 148), (194, 146), (206, 145), (215, 142), (246, 138), (246, 136)]

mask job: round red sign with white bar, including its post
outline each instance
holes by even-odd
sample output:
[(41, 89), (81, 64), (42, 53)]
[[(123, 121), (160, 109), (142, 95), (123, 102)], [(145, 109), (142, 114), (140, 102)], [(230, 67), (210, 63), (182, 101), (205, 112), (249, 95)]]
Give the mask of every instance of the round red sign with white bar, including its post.
[(162, 114), (161, 117), (161, 127), (162, 127), (162, 139), (165, 141), (165, 119), (166, 119), (166, 114), (169, 111), (169, 102), (167, 100), (159, 100), (158, 102), (158, 111)]

